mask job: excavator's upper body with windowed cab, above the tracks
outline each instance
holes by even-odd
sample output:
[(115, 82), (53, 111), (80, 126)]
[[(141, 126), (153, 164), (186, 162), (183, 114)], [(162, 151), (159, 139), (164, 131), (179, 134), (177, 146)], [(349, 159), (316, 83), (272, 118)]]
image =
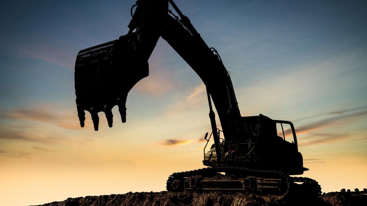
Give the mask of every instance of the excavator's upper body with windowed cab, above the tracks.
[(205, 153), (203, 164), (241, 165), (287, 172), (291, 175), (303, 174), (301, 153), (298, 152), (295, 129), (290, 121), (272, 120), (267, 116), (241, 117), (242, 124), (233, 142), (221, 142), (223, 161), (217, 160), (215, 145)]

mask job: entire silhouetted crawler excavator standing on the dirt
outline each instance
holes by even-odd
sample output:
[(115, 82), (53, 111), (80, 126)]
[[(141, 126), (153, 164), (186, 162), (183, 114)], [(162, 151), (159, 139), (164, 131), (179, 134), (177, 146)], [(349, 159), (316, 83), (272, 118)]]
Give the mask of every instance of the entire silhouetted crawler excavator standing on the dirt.
[[(111, 109), (116, 105), (122, 122), (126, 122), (127, 94), (149, 75), (148, 60), (161, 37), (204, 82), (211, 123), (211, 134), (207, 132), (204, 139), (207, 145), (211, 138), (214, 140), (207, 152), (207, 145), (204, 147), (203, 164), (208, 167), (173, 173), (167, 180), (168, 191), (321, 194), (317, 181), (290, 176), (308, 170), (303, 167), (293, 124), (261, 114), (241, 116), (230, 72), (218, 51), (206, 44), (173, 0), (138, 0), (130, 12), (132, 19), (126, 35), (77, 54), (75, 94), (81, 127), (85, 111), (91, 114), (95, 131), (98, 112), (105, 113), (112, 127)], [(212, 103), (221, 129), (217, 128)], [(285, 134), (291, 136), (291, 142)]]

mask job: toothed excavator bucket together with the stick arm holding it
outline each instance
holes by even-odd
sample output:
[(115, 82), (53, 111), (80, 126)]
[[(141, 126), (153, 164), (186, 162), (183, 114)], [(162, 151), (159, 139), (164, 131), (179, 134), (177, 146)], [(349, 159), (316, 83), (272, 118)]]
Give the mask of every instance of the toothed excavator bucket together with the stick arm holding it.
[(148, 76), (148, 59), (167, 15), (167, 0), (138, 0), (131, 8), (128, 34), (77, 54), (75, 94), (81, 127), (86, 119), (84, 111), (91, 113), (94, 130), (98, 130), (98, 112), (105, 113), (108, 126), (112, 127), (111, 109), (115, 105), (119, 106), (122, 122), (126, 122), (127, 93)]

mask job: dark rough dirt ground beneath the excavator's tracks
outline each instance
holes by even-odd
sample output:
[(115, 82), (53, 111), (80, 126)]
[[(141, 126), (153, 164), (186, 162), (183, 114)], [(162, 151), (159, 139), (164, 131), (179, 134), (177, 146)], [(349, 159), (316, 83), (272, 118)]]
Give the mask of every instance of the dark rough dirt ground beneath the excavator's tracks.
[(320, 206), (354, 206), (367, 202), (367, 195), (330, 192), (319, 198), (302, 196), (256, 195), (224, 192), (128, 192), (119, 195), (86, 196), (68, 198), (61, 202), (51, 202), (43, 206), (150, 206), (150, 205), (232, 205), (232, 206), (279, 206), (279, 205), (320, 205)]

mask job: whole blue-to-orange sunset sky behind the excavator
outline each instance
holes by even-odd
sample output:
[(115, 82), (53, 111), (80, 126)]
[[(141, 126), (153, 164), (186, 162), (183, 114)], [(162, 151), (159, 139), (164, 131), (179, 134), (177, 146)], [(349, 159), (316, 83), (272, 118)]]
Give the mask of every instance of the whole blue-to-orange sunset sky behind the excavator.
[[(204, 167), (205, 87), (161, 38), (127, 122), (115, 107), (112, 128), (101, 114), (95, 132), (88, 113), (79, 126), (76, 54), (126, 34), (134, 3), (3, 1), (0, 205), (163, 191), (172, 173)], [(241, 115), (292, 121), (302, 176), (323, 192), (366, 188), (366, 1), (175, 3), (221, 55)]]

